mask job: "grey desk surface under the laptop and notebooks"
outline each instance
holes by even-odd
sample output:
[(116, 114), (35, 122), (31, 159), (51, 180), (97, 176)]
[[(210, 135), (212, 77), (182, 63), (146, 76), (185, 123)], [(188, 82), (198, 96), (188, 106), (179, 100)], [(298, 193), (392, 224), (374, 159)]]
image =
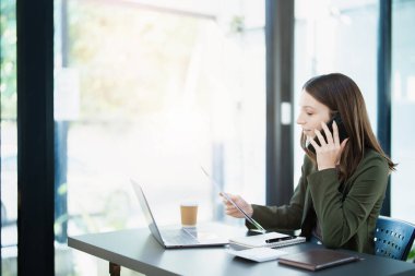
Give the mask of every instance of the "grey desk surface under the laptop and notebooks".
[[(69, 237), (68, 245), (145, 275), (415, 275), (415, 264), (368, 254), (364, 261), (308, 272), (280, 265), (276, 261), (256, 263), (234, 257), (224, 247), (164, 249), (146, 228)], [(301, 243), (286, 247), (289, 253), (319, 247)]]

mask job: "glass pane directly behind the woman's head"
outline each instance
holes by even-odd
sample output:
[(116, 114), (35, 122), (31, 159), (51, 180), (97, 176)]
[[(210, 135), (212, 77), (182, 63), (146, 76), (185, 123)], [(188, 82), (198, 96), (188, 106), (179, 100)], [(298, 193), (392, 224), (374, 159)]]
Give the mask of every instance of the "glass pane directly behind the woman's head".
[[(378, 1), (299, 0), (295, 7), (295, 115), (301, 87), (311, 76), (341, 72), (364, 94), (371, 127), (377, 118)], [(295, 129), (299, 140), (300, 129)], [(295, 146), (299, 178), (303, 149)], [(296, 184), (296, 183), (295, 183)]]

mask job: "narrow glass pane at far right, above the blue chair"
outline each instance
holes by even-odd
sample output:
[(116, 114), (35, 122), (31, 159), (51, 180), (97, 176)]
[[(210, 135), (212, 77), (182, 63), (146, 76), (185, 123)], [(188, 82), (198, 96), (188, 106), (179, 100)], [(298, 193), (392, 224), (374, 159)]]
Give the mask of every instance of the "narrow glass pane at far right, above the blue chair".
[(415, 221), (415, 1), (393, 1), (392, 7), (392, 173), (393, 217)]

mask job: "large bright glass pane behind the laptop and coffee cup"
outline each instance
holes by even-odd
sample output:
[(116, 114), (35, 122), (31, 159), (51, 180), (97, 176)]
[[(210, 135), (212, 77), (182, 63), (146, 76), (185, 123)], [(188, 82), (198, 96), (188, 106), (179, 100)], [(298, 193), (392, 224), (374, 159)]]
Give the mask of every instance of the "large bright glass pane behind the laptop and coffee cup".
[(146, 226), (130, 178), (162, 225), (189, 199), (199, 221), (225, 219), (201, 167), (264, 203), (263, 4), (190, 2), (56, 1), (57, 273), (108, 269), (67, 233)]

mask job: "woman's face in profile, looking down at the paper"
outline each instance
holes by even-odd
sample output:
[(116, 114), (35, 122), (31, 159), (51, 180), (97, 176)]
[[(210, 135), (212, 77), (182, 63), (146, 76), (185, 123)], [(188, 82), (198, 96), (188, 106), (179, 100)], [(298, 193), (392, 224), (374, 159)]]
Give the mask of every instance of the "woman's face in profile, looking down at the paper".
[(297, 123), (305, 135), (316, 136), (315, 130), (321, 130), (321, 122), (330, 120), (330, 108), (311, 97), (306, 91), (301, 93), (299, 107)]

